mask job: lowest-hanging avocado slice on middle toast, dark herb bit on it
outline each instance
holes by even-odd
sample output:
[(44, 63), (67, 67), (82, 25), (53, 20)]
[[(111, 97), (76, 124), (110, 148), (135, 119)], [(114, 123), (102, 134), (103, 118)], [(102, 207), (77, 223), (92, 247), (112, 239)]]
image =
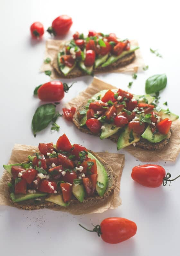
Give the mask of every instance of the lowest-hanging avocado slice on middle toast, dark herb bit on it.
[(129, 142), (131, 131), (132, 130), (129, 129), (128, 126), (125, 127), (125, 130), (119, 136), (119, 139), (117, 142), (117, 150), (120, 150), (122, 148), (125, 148), (125, 147), (131, 145), (132, 143), (136, 143), (136, 142), (140, 141), (140, 135), (132, 132), (134, 140)]

